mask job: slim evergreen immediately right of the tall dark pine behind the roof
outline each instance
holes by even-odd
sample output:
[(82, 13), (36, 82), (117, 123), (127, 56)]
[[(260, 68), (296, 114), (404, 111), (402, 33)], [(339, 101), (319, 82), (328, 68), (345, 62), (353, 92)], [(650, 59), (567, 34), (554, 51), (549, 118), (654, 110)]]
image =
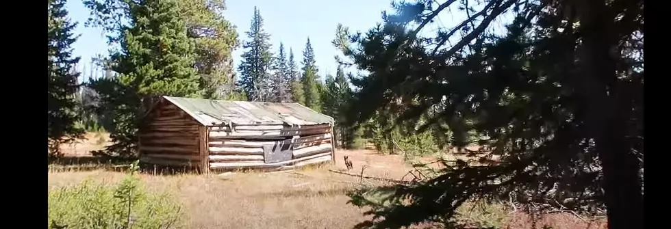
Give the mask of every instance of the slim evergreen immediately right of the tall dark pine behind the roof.
[(284, 44), (280, 42), (279, 52), (277, 53), (275, 63), (273, 64), (273, 93), (272, 96), (270, 96), (273, 99), (270, 101), (283, 103), (291, 100), (291, 79), (288, 74), (290, 74), (290, 72), (287, 66), (286, 53), (284, 52)]

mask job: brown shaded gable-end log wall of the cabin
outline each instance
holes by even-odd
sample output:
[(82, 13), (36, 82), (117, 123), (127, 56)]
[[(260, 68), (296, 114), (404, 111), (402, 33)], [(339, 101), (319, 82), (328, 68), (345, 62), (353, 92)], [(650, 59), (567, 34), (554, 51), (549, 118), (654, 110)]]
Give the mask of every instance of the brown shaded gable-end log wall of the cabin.
[(201, 154), (199, 137), (201, 129), (207, 131), (205, 127), (167, 101), (157, 106), (144, 119), (139, 131), (140, 161), (180, 167), (203, 166), (200, 162), (207, 151)]

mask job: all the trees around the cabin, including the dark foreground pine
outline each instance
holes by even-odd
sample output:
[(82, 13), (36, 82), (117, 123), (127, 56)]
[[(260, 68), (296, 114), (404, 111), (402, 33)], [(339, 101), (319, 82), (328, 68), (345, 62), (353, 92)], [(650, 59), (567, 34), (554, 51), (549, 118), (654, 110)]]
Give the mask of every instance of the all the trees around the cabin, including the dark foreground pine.
[[(406, 155), (470, 144), (486, 152), (441, 160), (444, 169), (411, 185), (351, 193), (351, 204), (372, 209), (359, 228), (463, 226), (456, 209), (474, 199), (644, 228), (642, 0), (393, 3), (365, 33), (335, 28), (344, 57), (324, 81), (310, 40), (302, 58), (273, 48), (258, 9), (238, 38), (220, 1), (85, 4), (88, 25), (120, 47), (97, 59), (105, 77), (80, 85), (74, 23), (64, 0), (49, 0), (50, 154), (95, 122), (114, 140), (108, 153), (133, 155), (139, 118), (157, 95), (296, 102), (333, 116), (345, 148), (366, 139)], [(441, 12), (455, 16), (453, 27), (441, 25)], [(422, 33), (432, 24), (440, 29)]]

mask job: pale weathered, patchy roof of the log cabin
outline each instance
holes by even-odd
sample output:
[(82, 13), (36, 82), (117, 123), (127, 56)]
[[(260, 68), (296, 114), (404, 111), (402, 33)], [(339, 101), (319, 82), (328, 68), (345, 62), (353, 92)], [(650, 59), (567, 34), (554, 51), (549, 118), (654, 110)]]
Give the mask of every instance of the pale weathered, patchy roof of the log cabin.
[(264, 103), (163, 96), (205, 126), (214, 124), (309, 125), (333, 118), (298, 103)]

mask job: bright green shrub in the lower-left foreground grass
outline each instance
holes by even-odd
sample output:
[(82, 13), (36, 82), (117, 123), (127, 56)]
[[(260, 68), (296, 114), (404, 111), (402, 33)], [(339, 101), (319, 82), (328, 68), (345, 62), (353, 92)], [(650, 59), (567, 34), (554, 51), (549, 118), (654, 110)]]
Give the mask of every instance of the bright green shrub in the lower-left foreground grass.
[(149, 193), (137, 163), (116, 185), (90, 180), (49, 191), (49, 228), (181, 228), (181, 206), (166, 193)]

